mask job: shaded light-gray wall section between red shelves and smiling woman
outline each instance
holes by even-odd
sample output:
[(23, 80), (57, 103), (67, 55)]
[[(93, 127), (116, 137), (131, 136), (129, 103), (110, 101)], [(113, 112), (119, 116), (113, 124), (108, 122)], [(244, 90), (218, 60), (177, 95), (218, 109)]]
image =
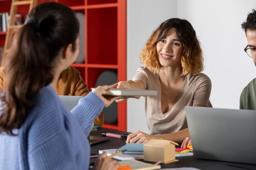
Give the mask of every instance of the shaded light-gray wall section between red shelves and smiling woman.
[[(157, 26), (176, 17), (177, 0), (127, 0), (127, 79), (132, 79), (139, 66), (139, 53)], [(127, 131), (149, 132), (144, 99), (127, 100)]]

